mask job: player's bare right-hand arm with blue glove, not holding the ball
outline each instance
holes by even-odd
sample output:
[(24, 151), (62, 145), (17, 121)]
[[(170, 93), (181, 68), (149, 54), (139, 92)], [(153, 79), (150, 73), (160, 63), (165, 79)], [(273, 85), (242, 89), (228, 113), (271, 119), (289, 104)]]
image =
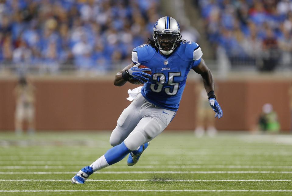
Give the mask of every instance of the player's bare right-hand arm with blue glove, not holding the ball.
[(208, 93), (209, 104), (214, 110), (215, 118), (221, 118), (223, 116), (222, 109), (219, 103), (216, 100), (215, 92), (214, 92), (214, 77), (210, 69), (207, 67), (204, 59), (201, 58), (201, 62), (199, 65), (192, 68), (196, 73), (200, 74), (203, 79), (204, 87), (206, 92)]

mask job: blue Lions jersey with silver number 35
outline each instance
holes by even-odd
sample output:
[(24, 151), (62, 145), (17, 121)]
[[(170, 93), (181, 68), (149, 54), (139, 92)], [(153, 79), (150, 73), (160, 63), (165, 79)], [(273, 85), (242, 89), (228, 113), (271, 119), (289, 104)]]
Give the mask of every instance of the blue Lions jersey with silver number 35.
[(198, 66), (203, 53), (201, 47), (190, 41), (181, 42), (169, 56), (159, 53), (150, 44), (143, 44), (132, 51), (132, 61), (149, 67), (151, 78), (141, 90), (150, 103), (167, 110), (177, 111), (191, 68)]

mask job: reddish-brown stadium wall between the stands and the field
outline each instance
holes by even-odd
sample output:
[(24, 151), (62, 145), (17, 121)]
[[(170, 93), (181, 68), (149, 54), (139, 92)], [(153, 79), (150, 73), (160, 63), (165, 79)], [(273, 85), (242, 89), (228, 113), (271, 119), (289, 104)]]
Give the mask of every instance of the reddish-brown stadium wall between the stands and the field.
[[(216, 120), (219, 130), (252, 130), (262, 106), (272, 103), (279, 115), (281, 129), (290, 130), (288, 106), (290, 81), (238, 80), (216, 81), (216, 96), (223, 118)], [(0, 130), (14, 129), (14, 79), (0, 80)], [(130, 103), (127, 90), (135, 86), (113, 85), (112, 79), (44, 79), (33, 80), (36, 87), (37, 130), (112, 130), (121, 112)], [(168, 130), (194, 130), (197, 95), (189, 79), (181, 106)]]

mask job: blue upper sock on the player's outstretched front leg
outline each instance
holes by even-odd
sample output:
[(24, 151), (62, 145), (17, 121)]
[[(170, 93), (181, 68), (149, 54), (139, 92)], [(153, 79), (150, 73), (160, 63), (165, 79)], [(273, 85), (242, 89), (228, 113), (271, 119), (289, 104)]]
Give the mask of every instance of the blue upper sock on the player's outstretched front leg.
[(130, 153), (130, 150), (127, 148), (124, 142), (121, 144), (112, 147), (105, 154), (104, 157), (107, 160), (109, 165), (118, 163), (121, 159), (124, 159), (127, 154)]

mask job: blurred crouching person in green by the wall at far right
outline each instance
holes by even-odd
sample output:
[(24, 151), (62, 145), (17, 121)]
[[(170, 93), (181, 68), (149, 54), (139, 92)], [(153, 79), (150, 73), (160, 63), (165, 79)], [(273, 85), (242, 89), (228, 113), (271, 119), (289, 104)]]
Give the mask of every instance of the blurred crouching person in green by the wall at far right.
[(273, 110), (273, 106), (270, 103), (266, 103), (262, 107), (262, 113), (259, 117), (259, 130), (273, 133), (278, 133), (280, 131), (278, 115)]

